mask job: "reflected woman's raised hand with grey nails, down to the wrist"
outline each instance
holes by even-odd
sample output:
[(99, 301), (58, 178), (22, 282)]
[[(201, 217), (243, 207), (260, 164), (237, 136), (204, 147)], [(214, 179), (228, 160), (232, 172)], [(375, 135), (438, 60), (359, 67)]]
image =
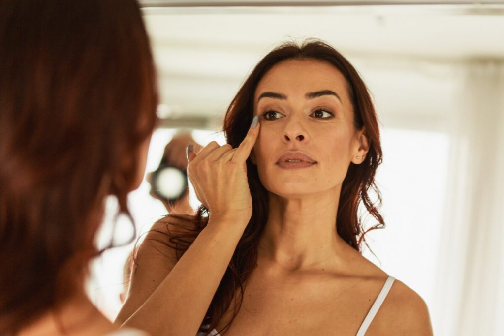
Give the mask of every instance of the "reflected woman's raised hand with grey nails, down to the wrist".
[(253, 122), (237, 148), (212, 141), (198, 154), (187, 152), (187, 176), (212, 219), (236, 219), (246, 224), (252, 216), (245, 162), (259, 135), (258, 117), (254, 119), (257, 126)]

